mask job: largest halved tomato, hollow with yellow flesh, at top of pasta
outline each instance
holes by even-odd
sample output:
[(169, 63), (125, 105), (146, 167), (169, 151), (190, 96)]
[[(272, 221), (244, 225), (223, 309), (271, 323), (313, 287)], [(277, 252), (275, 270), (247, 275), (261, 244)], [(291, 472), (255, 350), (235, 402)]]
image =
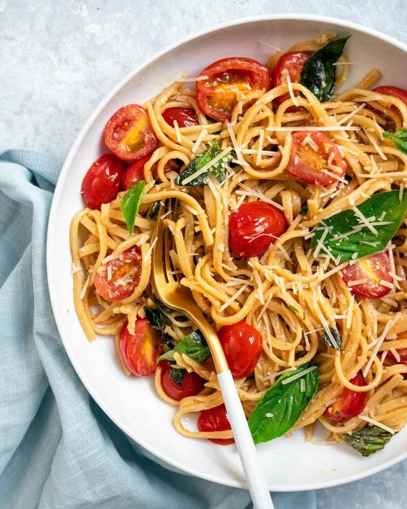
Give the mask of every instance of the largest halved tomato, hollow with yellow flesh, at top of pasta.
[(232, 57), (217, 60), (200, 73), (207, 80), (196, 81), (196, 100), (201, 111), (219, 122), (228, 122), (238, 94), (250, 90), (267, 92), (270, 72), (252, 59)]

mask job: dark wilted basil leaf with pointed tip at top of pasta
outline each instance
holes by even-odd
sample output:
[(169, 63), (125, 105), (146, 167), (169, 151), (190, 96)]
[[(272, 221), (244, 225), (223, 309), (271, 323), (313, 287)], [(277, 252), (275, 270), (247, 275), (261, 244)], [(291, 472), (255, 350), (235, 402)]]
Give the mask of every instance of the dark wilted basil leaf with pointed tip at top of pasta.
[(335, 90), (334, 63), (343, 53), (343, 47), (351, 36), (334, 39), (313, 53), (305, 62), (300, 83), (307, 87), (321, 102), (329, 101)]

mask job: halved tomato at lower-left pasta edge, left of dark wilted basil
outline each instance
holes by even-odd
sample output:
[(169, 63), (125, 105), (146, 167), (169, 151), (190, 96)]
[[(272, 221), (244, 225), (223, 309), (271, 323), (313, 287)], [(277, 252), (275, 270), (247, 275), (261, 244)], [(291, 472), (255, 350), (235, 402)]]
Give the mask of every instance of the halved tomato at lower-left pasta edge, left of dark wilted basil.
[(136, 318), (134, 335), (127, 330), (127, 320), (120, 333), (120, 350), (129, 370), (138, 377), (155, 373), (158, 357), (162, 354), (160, 331), (146, 318)]

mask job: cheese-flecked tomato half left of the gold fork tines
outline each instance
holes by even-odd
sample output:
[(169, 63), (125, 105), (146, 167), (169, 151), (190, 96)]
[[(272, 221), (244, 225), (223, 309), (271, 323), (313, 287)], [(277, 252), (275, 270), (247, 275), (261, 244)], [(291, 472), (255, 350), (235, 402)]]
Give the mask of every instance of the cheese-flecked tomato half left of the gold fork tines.
[(127, 249), (95, 274), (98, 294), (109, 302), (126, 299), (134, 292), (141, 273), (141, 249), (138, 246)]

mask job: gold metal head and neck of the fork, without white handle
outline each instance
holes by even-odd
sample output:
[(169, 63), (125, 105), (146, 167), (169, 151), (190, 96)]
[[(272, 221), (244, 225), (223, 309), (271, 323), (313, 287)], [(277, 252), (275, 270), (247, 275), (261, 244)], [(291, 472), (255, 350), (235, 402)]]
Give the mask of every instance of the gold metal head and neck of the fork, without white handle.
[[(153, 249), (152, 264), (154, 290), (157, 297), (166, 306), (187, 316), (195, 323), (197, 328), (200, 329), (211, 350), (216, 372), (223, 373), (229, 368), (216, 332), (205, 316), (203, 316), (189, 288), (181, 285), (178, 278), (171, 274), (172, 267), (169, 252), (172, 249), (172, 235), (170, 236), (169, 228), (164, 228), (163, 219), (161, 219), (164, 211), (166, 211), (170, 205), (169, 200), (166, 200), (164, 204), (160, 204), (157, 215), (155, 230), (157, 241)], [(175, 209), (176, 204), (172, 204), (172, 210), (168, 217), (169, 219), (174, 219), (176, 217)]]

